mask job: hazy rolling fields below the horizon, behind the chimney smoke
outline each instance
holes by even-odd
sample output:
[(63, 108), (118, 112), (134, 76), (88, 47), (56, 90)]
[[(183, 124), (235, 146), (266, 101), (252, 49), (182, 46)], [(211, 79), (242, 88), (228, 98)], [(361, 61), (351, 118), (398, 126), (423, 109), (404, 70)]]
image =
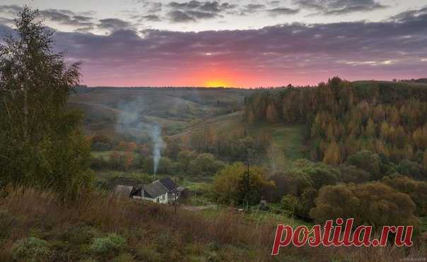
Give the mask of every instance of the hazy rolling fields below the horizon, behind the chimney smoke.
[[(86, 133), (126, 133), (146, 137), (147, 125), (165, 134), (242, 109), (254, 90), (232, 88), (86, 88), (71, 95), (69, 107), (81, 109)], [(120, 126), (123, 124), (124, 126)]]

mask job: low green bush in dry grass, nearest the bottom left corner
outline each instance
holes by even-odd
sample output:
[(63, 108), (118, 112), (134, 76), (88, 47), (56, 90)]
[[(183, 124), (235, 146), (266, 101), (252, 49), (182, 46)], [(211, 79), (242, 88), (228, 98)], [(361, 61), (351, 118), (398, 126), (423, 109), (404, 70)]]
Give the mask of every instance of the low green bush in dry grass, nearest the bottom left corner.
[(37, 237), (19, 239), (12, 246), (12, 257), (18, 261), (46, 261), (50, 254), (47, 242)]

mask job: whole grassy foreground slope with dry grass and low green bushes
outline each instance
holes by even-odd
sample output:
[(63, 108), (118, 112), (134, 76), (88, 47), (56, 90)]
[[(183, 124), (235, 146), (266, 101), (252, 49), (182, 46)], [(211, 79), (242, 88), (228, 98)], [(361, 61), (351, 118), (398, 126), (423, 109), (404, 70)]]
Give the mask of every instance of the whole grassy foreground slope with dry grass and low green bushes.
[(288, 246), (272, 257), (278, 221), (268, 213), (194, 212), (81, 192), (6, 189), (0, 201), (0, 261), (399, 261), (423, 249)]

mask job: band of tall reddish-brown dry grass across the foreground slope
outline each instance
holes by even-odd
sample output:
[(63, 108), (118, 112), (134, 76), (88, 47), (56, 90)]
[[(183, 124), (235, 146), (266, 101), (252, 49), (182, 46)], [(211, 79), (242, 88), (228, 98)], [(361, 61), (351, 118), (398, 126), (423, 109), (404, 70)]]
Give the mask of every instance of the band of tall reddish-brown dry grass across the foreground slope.
[[(230, 261), (399, 261), (402, 258), (426, 257), (426, 249), (386, 248), (324, 248), (289, 246), (281, 249), (277, 258), (271, 258), (271, 246), (276, 225), (274, 221), (244, 222), (241, 214), (221, 210), (209, 218), (188, 210), (177, 210), (165, 205), (118, 198), (100, 191), (81, 192), (73, 203), (63, 203), (52, 191), (34, 188), (7, 187), (1, 192), (0, 210), (16, 217), (19, 222), (9, 225), (8, 239), (0, 242), (0, 261), (10, 258), (8, 249), (18, 239), (28, 237), (35, 227), (58, 232), (74, 225), (89, 225), (104, 232), (127, 236), (130, 246), (141, 244), (138, 232), (148, 232), (144, 244), (160, 243), (168, 249), (185, 249), (189, 243), (236, 246), (246, 250), (247, 257)], [(160, 237), (159, 237), (160, 236)], [(48, 237), (48, 236), (47, 236)], [(231, 250), (231, 249), (230, 249)], [(232, 251), (231, 251), (232, 252)]]

